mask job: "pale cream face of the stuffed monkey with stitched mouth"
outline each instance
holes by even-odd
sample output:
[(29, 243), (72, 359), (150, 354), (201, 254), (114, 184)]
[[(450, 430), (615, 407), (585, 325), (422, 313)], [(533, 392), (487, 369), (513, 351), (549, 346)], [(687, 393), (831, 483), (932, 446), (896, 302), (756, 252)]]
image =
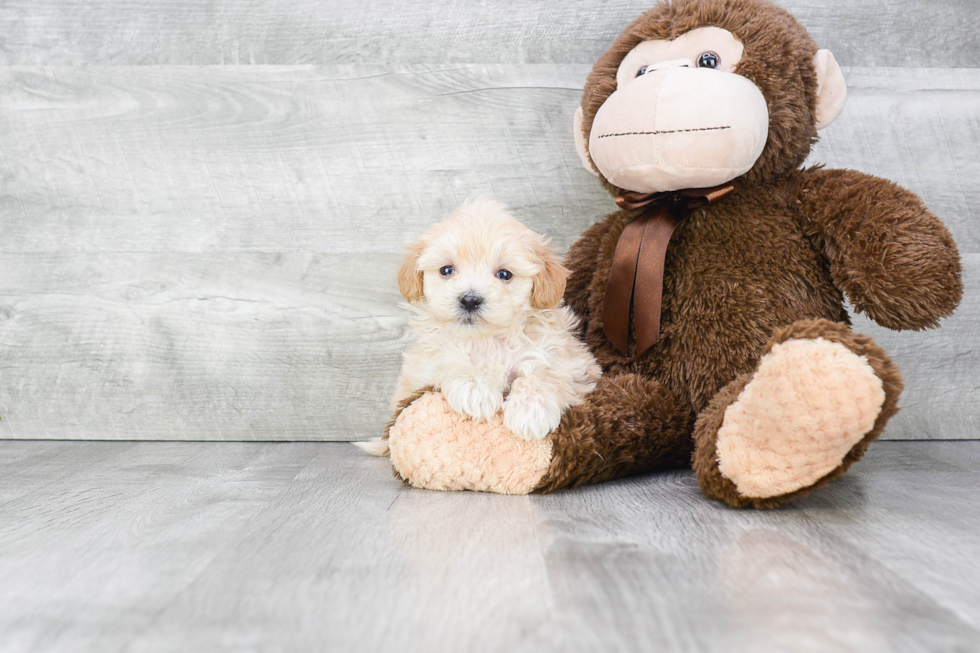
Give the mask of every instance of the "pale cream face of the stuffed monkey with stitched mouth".
[(589, 152), (614, 186), (704, 188), (748, 172), (769, 133), (766, 99), (734, 72), (742, 44), (719, 27), (644, 41), (623, 59), (596, 112)]

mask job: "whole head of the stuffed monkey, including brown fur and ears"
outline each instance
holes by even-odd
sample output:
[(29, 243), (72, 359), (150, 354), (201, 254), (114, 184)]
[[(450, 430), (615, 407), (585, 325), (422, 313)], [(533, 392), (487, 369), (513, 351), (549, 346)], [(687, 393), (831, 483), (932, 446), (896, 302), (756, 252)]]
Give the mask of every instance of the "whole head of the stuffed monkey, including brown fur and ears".
[(708, 188), (753, 167), (772, 177), (802, 163), (845, 96), (833, 55), (771, 3), (675, 0), (593, 68), (576, 147), (613, 191)]

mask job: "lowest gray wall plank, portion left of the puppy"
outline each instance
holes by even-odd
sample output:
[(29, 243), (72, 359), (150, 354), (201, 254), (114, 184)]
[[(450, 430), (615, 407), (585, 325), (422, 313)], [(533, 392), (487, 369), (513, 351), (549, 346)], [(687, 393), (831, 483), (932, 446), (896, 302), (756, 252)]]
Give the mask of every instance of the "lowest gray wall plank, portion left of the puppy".
[(407, 347), (392, 256), (5, 255), (0, 437), (380, 433)]

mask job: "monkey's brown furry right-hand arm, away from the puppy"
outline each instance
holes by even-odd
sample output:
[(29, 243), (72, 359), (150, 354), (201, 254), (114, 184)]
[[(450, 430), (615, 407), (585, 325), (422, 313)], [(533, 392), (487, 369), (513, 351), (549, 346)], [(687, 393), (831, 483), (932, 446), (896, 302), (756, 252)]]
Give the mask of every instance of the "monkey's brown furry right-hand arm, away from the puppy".
[(858, 312), (889, 329), (925, 329), (963, 295), (960, 254), (914, 193), (855, 170), (810, 169), (796, 186), (811, 238)]

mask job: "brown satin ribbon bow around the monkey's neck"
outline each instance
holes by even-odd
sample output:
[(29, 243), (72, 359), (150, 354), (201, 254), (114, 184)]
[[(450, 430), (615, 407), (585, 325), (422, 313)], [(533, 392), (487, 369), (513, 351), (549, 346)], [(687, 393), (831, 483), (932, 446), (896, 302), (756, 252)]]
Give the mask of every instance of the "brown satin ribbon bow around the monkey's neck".
[(660, 338), (664, 259), (674, 228), (688, 212), (721, 199), (731, 190), (724, 185), (666, 193), (627, 192), (616, 198), (616, 204), (627, 211), (648, 207), (620, 234), (606, 284), (602, 330), (624, 356), (629, 351), (630, 305), (636, 356)]

